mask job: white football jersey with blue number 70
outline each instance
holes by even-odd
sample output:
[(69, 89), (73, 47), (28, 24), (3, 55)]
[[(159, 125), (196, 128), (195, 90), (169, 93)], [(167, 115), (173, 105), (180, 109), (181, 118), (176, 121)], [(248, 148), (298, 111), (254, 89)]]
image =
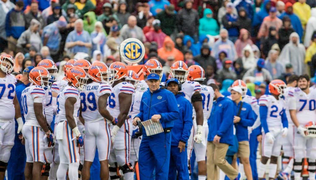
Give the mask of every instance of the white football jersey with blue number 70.
[(296, 117), (301, 125), (306, 125), (310, 121), (316, 122), (316, 89), (309, 88), (306, 94), (301, 88), (296, 87), (289, 94), (294, 95), (295, 101), (291, 101), (289, 109), (296, 109)]

